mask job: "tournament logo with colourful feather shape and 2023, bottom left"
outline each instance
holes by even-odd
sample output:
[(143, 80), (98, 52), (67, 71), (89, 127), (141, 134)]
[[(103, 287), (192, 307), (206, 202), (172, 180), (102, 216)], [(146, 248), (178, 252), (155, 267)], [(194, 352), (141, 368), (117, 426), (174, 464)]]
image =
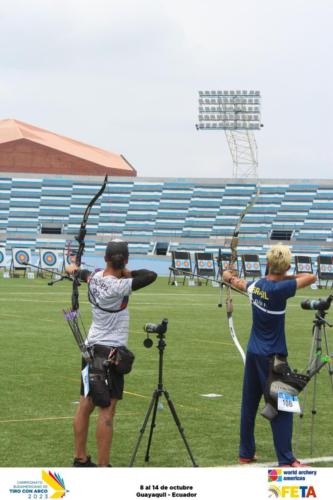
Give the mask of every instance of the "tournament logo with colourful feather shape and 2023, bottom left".
[(63, 478), (57, 472), (42, 470), (42, 477), (19, 479), (9, 489), (10, 495), (26, 500), (64, 498), (66, 490)]

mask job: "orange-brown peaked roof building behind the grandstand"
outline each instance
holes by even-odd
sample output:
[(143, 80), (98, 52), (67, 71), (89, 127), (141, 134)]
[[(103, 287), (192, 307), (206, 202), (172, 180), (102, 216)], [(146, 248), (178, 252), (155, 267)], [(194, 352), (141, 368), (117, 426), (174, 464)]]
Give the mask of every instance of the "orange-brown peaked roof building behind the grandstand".
[(0, 171), (135, 176), (123, 155), (110, 153), (14, 119), (0, 120)]

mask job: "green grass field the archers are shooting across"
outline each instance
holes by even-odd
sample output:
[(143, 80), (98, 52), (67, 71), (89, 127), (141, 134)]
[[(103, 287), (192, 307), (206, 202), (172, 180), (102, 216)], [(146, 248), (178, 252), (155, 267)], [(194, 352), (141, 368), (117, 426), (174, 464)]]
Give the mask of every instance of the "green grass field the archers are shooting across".
[[(47, 286), (47, 280), (0, 279), (0, 466), (70, 466), (73, 457), (72, 417), (78, 400), (80, 352), (62, 309), (70, 302), (71, 286)], [(303, 370), (307, 364), (313, 311), (303, 311), (303, 298), (325, 296), (325, 290), (300, 290), (289, 301), (287, 341), (289, 361)], [(245, 349), (250, 307), (233, 294), (236, 333)], [(81, 311), (88, 326), (90, 305), (80, 289)], [(158, 350), (146, 349), (143, 325), (168, 318), (164, 383), (200, 466), (237, 463), (239, 410), (243, 365), (231, 341), (225, 307), (217, 307), (218, 291), (211, 286), (169, 287), (166, 278), (133, 294), (130, 300), (130, 349), (136, 354), (126, 377), (124, 400), (115, 418), (112, 464), (126, 467), (157, 384)], [(328, 319), (333, 321), (332, 311)], [(333, 345), (333, 330), (327, 330)], [(332, 387), (324, 368), (317, 379), (314, 456), (333, 455)], [(201, 394), (217, 393), (209, 399)], [(312, 384), (309, 386), (299, 457), (309, 456)], [(96, 457), (92, 416), (89, 449)], [(298, 419), (295, 419), (297, 423)], [(296, 427), (295, 433), (296, 436)], [(136, 466), (145, 466), (148, 430)], [(258, 416), (257, 455), (273, 462), (275, 455), (268, 422)], [(150, 466), (182, 467), (191, 462), (164, 401), (157, 414)], [(318, 464), (321, 465), (321, 464)], [(325, 465), (333, 465), (325, 464)]]

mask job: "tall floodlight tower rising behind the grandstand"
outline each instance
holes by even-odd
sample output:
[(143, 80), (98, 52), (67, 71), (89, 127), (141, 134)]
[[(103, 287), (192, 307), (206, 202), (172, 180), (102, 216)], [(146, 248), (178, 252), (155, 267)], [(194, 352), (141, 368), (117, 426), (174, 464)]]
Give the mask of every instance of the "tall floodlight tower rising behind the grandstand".
[(233, 161), (233, 177), (258, 178), (259, 90), (200, 90), (197, 130), (224, 130)]

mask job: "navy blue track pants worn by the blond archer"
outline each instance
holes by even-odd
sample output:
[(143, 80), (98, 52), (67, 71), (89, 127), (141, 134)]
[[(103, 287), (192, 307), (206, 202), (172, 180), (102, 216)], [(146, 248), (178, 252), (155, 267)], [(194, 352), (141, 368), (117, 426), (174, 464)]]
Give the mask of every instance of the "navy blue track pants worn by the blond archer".
[[(241, 408), (241, 431), (239, 455), (252, 458), (255, 455), (254, 425), (260, 399), (266, 388), (269, 358), (248, 352), (246, 355), (243, 398)], [(279, 465), (291, 464), (293, 414), (279, 411), (271, 422), (274, 448)]]

